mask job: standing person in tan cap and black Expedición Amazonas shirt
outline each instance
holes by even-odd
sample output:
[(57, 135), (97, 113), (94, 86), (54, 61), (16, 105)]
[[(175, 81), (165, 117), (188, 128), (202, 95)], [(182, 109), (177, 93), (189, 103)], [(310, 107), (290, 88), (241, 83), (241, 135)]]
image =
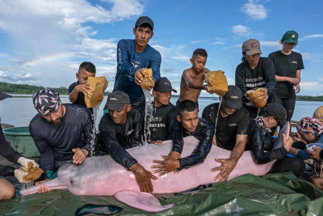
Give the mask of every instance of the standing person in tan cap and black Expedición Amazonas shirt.
[(261, 114), (265, 107), (258, 110), (255, 108), (246, 95), (248, 90), (257, 90), (264, 88), (260, 99), (266, 100), (267, 104), (274, 102), (274, 88), (276, 85), (275, 69), (271, 59), (260, 57), (262, 54), (260, 42), (256, 39), (246, 40), (242, 44), (242, 63), (235, 70), (235, 85), (239, 87), (242, 93), (242, 107), (245, 108), (250, 116), (254, 119)]

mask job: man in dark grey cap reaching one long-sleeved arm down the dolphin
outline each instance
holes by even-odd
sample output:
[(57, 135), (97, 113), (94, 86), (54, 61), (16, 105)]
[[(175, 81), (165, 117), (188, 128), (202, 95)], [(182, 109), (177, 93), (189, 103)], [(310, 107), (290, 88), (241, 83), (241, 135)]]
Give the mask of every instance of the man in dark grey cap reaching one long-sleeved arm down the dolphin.
[(151, 174), (125, 150), (141, 146), (141, 110), (131, 106), (129, 95), (125, 92), (112, 92), (108, 96), (104, 110), (109, 110), (100, 120), (100, 142), (112, 159), (136, 174), (141, 192), (153, 192)]

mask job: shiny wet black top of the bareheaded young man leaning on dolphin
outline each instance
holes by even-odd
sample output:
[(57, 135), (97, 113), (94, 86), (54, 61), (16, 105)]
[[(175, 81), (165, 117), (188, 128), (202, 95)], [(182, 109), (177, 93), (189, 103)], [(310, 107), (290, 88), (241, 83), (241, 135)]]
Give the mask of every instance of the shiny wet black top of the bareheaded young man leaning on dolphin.
[(205, 119), (200, 118), (195, 131), (187, 134), (185, 129), (182, 128), (182, 124), (180, 124), (173, 132), (172, 151), (182, 154), (184, 146), (183, 137), (190, 135), (200, 140), (200, 142), (190, 156), (178, 159), (180, 161), (180, 169), (187, 169), (203, 163), (212, 147), (214, 127)]

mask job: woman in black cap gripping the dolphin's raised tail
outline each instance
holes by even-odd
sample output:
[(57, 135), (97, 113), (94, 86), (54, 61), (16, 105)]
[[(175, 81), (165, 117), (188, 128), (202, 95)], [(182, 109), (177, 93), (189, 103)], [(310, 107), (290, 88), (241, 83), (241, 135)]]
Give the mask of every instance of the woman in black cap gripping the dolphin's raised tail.
[(283, 145), (278, 147), (274, 146), (274, 140), (270, 135), (270, 128), (283, 126), (286, 123), (285, 108), (278, 103), (267, 104), (265, 112), (250, 121), (246, 148), (253, 152), (256, 164), (266, 164), (276, 160), (268, 173), (292, 172), (299, 177), (304, 173), (305, 163), (296, 157), (286, 157), (293, 139), (289, 136), (286, 140), (283, 135)]

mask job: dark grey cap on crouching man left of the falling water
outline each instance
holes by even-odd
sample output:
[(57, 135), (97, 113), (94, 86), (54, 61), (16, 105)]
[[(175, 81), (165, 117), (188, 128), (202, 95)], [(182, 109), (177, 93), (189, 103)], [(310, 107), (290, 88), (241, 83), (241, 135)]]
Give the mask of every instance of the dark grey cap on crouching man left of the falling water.
[(126, 103), (130, 104), (129, 95), (127, 93), (120, 91), (112, 92), (109, 94), (107, 103), (105, 104), (103, 110), (119, 111)]

